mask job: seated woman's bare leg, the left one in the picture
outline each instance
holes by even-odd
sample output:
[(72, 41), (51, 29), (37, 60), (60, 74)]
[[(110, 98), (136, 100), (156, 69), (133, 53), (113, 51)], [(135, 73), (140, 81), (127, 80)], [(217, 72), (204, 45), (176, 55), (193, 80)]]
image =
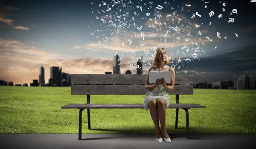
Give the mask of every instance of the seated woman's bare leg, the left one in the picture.
[(151, 118), (156, 127), (157, 138), (160, 139), (162, 137), (161, 137), (161, 129), (159, 127), (159, 120), (158, 120), (158, 114), (157, 114), (157, 100), (156, 99), (149, 100), (148, 106), (149, 106)]

